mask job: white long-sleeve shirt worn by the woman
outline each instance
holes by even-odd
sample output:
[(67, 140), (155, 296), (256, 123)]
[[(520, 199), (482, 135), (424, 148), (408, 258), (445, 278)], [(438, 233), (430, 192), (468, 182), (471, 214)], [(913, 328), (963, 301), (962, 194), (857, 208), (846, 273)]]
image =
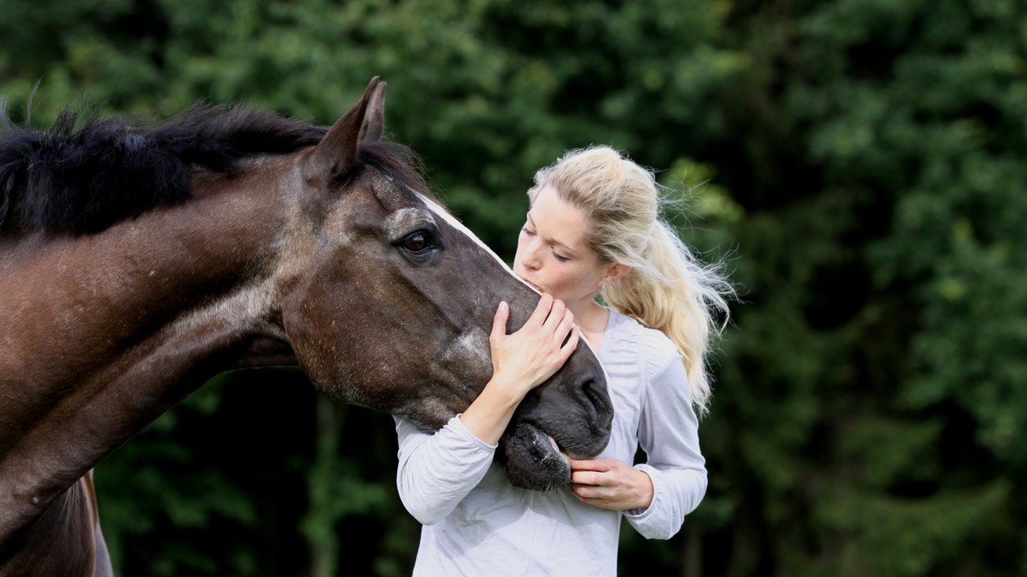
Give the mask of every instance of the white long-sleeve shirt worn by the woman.
[(599, 358), (614, 418), (602, 457), (633, 463), (652, 478), (644, 510), (611, 511), (578, 501), (569, 489), (541, 493), (509, 484), (483, 443), (458, 417), (425, 432), (396, 418), (396, 485), (423, 528), (415, 577), (610, 576), (617, 573), (623, 515), (641, 535), (668, 539), (681, 529), (707, 488), (698, 420), (684, 364), (658, 331), (610, 311)]

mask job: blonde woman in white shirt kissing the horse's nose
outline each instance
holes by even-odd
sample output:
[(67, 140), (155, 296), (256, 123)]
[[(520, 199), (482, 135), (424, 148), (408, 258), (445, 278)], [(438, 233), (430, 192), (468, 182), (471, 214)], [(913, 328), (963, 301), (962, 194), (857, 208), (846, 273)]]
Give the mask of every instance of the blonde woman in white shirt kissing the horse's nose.
[[(493, 377), (464, 413), (435, 433), (396, 419), (400, 496), (424, 525), (415, 576), (616, 575), (622, 516), (668, 539), (706, 493), (705, 356), (728, 284), (659, 219), (652, 172), (613, 149), (571, 151), (528, 196), (514, 271), (543, 293), (538, 307), (506, 335), (500, 303)], [(515, 488), (493, 462), (496, 444), (580, 335), (607, 371), (609, 446), (571, 459), (569, 491)], [(639, 447), (646, 463), (632, 466)]]

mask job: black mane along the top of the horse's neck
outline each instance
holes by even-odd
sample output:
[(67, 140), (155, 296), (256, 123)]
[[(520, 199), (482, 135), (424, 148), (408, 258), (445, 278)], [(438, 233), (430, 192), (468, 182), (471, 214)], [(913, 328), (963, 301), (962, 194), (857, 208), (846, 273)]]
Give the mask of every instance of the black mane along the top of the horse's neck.
[[(196, 167), (317, 144), (326, 127), (275, 113), (196, 105), (163, 126), (66, 109), (49, 130), (0, 113), (0, 232), (89, 234), (191, 197)], [(80, 125), (81, 124), (81, 125)]]

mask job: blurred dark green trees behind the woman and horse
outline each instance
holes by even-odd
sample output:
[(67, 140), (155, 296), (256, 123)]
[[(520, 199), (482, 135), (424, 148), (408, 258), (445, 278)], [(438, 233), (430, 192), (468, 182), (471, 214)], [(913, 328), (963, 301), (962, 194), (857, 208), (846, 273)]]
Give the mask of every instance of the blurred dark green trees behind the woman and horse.
[[(739, 288), (681, 533), (625, 576), (1027, 575), (1023, 0), (2, 0), (0, 99), (197, 100), (387, 136), (511, 259), (534, 171), (617, 147)], [(27, 104), (31, 98), (31, 115)], [(223, 375), (97, 469), (123, 575), (409, 575), (391, 418)], [(644, 571), (643, 571), (643, 568)]]

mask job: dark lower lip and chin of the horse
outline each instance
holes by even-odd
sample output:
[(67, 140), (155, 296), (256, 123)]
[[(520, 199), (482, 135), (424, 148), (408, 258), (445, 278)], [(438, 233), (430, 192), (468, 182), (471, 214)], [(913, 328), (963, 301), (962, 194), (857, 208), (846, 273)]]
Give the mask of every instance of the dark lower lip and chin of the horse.
[(500, 455), (506, 476), (515, 487), (548, 491), (567, 487), (571, 465), (556, 440), (531, 423), (521, 422), (506, 430)]

